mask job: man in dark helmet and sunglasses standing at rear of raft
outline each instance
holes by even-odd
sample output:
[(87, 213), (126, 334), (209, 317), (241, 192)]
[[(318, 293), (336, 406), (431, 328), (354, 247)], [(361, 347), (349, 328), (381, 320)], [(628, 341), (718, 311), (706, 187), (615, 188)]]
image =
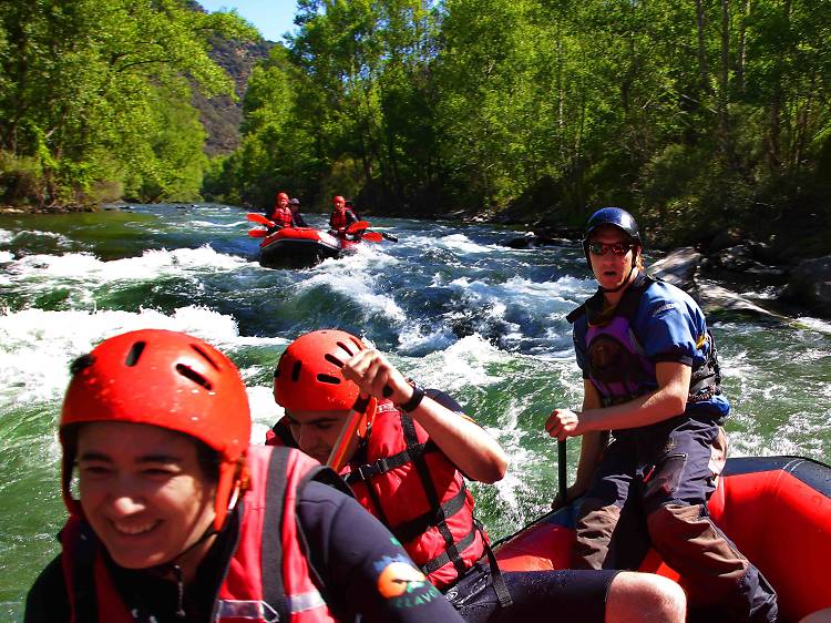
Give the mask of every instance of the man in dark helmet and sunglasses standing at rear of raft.
[(645, 274), (628, 212), (595, 212), (583, 248), (599, 285), (567, 317), (583, 408), (554, 409), (545, 423), (558, 440), (583, 437), (568, 488), (570, 499), (585, 493), (574, 566), (637, 568), (645, 544), (633, 543), (645, 524), (653, 547), (681, 574), (694, 616), (776, 621), (772, 589), (707, 514), (726, 458), (721, 423), (730, 404), (704, 313), (683, 290)]

